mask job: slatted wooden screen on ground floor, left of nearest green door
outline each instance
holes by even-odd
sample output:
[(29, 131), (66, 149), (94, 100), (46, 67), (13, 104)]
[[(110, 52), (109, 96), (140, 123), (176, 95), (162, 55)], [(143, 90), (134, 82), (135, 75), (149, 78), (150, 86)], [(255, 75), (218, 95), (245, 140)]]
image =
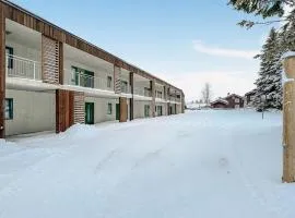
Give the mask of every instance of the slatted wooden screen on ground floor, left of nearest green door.
[(74, 93), (74, 123), (85, 123), (84, 93)]

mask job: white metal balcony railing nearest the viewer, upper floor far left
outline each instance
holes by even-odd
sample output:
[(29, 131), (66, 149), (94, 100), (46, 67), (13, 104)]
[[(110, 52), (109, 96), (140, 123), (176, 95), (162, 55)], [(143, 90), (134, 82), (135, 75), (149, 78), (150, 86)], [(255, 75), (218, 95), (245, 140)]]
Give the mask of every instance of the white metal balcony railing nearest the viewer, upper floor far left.
[(42, 80), (42, 66), (37, 61), (21, 58), (17, 56), (5, 56), (7, 75), (9, 77)]

